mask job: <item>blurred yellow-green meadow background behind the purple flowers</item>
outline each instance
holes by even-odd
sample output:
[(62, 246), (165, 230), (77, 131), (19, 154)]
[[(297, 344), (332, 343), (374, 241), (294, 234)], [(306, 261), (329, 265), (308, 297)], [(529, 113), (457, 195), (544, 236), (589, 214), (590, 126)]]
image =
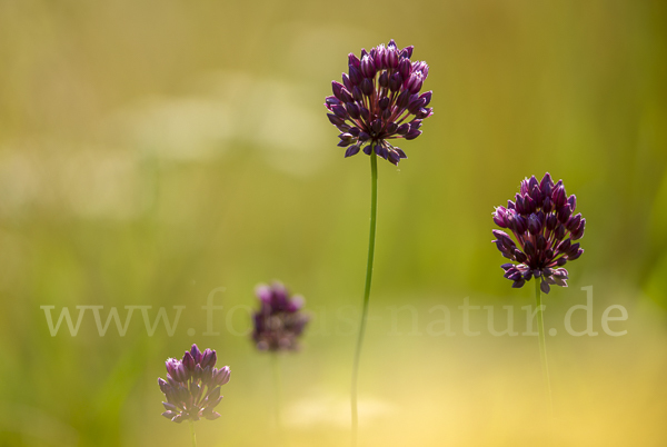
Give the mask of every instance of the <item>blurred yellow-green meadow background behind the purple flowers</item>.
[[(0, 445), (188, 445), (157, 378), (192, 342), (232, 369), (199, 445), (277, 445), (269, 358), (239, 335), (272, 279), (312, 318), (280, 359), (289, 443), (347, 445), (369, 163), (322, 103), (390, 38), (429, 63), (435, 116), (380, 163), (361, 445), (667, 445), (666, 26), (663, 1), (0, 0)], [(545, 171), (587, 218), (546, 301), (552, 419), (537, 337), (491, 336), (485, 310), (466, 337), (457, 309), (500, 329), (514, 306), (525, 330), (532, 289), (502, 278), (490, 213)], [(599, 335), (574, 337), (587, 286)], [(40, 309), (93, 305), (186, 309), (171, 337), (139, 311), (101, 337), (90, 310), (51, 337)], [(455, 336), (429, 332), (438, 305)]]

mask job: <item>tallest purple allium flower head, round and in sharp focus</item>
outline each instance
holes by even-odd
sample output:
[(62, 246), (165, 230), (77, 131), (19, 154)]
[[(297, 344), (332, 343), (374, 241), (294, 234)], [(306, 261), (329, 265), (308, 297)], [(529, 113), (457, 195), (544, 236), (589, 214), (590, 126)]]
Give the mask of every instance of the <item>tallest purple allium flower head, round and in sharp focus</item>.
[(361, 59), (348, 56), (349, 74), (342, 83), (332, 82), (334, 96), (325, 106), (329, 121), (340, 130), (338, 146), (348, 147), (346, 157), (375, 152), (398, 165), (405, 152), (387, 140), (412, 140), (421, 135), (421, 121), (432, 115), (427, 108), (431, 91), (419, 95), (428, 76), (428, 66), (410, 61), (414, 47), (399, 50), (396, 42), (380, 44), (370, 51), (361, 50)]

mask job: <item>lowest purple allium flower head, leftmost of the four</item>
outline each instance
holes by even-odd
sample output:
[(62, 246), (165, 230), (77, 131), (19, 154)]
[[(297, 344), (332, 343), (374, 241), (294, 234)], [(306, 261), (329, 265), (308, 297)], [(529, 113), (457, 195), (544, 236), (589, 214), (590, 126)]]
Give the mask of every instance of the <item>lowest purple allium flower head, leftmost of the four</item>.
[(229, 381), (229, 367), (216, 368), (216, 351), (199, 350), (197, 345), (186, 351), (182, 360), (167, 360), (167, 380), (158, 379), (160, 389), (167, 397), (162, 403), (167, 411), (162, 413), (175, 423), (186, 419), (217, 419), (220, 414), (213, 408), (220, 400), (220, 387)]

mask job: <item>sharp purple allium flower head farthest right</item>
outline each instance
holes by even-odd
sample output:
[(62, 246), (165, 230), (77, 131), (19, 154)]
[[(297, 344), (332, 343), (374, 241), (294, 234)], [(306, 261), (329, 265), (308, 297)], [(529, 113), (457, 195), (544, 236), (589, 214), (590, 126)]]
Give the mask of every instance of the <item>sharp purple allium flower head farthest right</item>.
[(502, 256), (518, 262), (501, 266), (512, 287), (522, 287), (531, 278), (541, 280), (545, 294), (550, 285), (567, 287), (568, 272), (563, 266), (584, 252), (574, 242), (581, 239), (586, 226), (581, 213), (574, 215), (576, 207), (577, 198), (567, 197), (563, 180), (554, 185), (547, 172), (539, 183), (535, 176), (521, 181), (515, 201), (496, 208), (496, 225), (515, 236), (512, 240), (505, 231), (494, 230), (494, 242)]

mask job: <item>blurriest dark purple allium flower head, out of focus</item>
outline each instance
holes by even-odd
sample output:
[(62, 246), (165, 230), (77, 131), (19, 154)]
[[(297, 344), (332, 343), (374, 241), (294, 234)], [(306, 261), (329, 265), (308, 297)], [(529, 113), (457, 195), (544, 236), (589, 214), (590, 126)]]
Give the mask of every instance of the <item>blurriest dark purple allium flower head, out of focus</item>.
[(296, 350), (297, 339), (303, 332), (308, 317), (300, 309), (301, 296), (290, 297), (285, 286), (273, 282), (260, 285), (255, 290), (260, 309), (253, 315), (252, 340), (259, 350)]

